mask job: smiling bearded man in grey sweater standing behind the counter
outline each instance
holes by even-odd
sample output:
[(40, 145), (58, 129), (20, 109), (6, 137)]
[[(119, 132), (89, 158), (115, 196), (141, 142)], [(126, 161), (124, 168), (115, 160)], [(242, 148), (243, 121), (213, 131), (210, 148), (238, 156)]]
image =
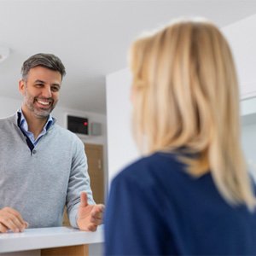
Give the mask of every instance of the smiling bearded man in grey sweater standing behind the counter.
[(65, 67), (37, 54), (21, 73), (21, 109), (0, 119), (0, 232), (61, 226), (65, 205), (73, 227), (94, 231), (104, 206), (92, 198), (84, 144), (50, 114)]

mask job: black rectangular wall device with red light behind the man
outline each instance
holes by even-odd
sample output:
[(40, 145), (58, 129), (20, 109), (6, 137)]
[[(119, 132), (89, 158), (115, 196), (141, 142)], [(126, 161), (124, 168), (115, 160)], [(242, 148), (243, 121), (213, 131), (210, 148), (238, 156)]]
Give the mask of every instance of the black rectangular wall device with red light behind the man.
[(67, 129), (74, 133), (88, 135), (88, 119), (67, 115)]

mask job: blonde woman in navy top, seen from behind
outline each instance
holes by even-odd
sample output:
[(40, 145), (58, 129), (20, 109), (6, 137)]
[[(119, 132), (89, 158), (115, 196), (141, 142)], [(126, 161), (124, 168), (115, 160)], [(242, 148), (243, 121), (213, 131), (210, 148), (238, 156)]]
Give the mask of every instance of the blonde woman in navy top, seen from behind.
[(131, 46), (133, 124), (146, 155), (113, 179), (107, 255), (256, 254), (236, 69), (207, 20), (178, 20)]

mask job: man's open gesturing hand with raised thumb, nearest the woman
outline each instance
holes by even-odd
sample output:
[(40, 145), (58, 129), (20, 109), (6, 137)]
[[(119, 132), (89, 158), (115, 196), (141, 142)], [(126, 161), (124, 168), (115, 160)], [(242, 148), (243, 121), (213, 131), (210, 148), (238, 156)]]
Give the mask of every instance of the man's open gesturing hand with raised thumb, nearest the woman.
[(82, 192), (80, 195), (80, 206), (77, 223), (80, 230), (96, 231), (97, 226), (102, 224), (104, 205), (89, 205), (87, 195)]

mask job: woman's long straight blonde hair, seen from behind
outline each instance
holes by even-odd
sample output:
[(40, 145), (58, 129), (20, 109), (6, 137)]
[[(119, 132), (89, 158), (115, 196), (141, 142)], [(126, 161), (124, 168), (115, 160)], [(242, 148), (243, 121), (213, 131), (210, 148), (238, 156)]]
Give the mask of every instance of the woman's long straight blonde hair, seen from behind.
[(180, 159), (191, 175), (210, 170), (226, 201), (253, 209), (236, 68), (218, 28), (206, 20), (179, 20), (138, 38), (131, 45), (131, 72), (138, 146), (146, 144), (148, 154), (185, 153)]

